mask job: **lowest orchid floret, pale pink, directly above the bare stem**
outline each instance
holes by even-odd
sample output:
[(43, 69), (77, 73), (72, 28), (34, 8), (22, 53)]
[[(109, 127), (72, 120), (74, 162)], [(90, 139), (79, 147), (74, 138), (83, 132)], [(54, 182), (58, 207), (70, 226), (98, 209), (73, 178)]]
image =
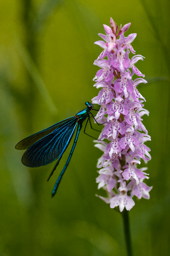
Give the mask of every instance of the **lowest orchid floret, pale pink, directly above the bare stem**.
[(116, 195), (110, 199), (110, 207), (114, 208), (115, 206), (119, 206), (120, 212), (123, 211), (124, 207), (127, 211), (130, 211), (132, 207), (135, 205), (134, 200), (127, 196), (127, 187), (126, 182), (122, 183), (122, 186), (119, 187), (119, 195)]

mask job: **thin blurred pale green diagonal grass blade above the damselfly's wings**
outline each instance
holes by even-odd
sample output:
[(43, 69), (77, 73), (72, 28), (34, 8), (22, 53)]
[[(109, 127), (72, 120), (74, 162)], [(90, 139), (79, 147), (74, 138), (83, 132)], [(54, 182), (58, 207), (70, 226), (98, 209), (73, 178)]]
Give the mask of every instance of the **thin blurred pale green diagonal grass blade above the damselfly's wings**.
[(17, 52), (20, 56), (20, 58), (22, 59), (25, 67), (27, 68), (32, 80), (34, 81), (34, 83), (36, 84), (38, 90), (40, 91), (41, 95), (43, 96), (50, 112), (52, 114), (57, 112), (57, 109), (49, 95), (49, 92), (41, 78), (40, 73), (37, 70), (37, 67), (35, 65), (35, 63), (33, 62), (29, 52), (24, 48), (24, 46), (22, 45), (21, 41), (19, 40), (19, 38), (16, 37), (16, 48), (17, 48)]

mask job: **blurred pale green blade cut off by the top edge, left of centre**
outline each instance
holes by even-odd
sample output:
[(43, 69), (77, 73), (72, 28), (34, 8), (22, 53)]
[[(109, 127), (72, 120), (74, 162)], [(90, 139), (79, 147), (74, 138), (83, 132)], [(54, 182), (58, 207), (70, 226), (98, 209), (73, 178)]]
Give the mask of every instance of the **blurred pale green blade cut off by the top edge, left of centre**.
[(55, 8), (58, 7), (62, 2), (63, 0), (46, 0), (37, 11), (32, 29), (40, 33), (43, 30), (47, 19), (52, 15)]

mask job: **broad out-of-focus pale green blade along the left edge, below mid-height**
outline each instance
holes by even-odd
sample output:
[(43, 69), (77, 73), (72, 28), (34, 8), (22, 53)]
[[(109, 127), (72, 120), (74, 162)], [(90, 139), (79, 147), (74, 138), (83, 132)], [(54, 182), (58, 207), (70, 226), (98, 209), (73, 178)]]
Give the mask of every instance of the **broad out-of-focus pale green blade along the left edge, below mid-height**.
[[(6, 84), (0, 83), (0, 120), (1, 120), (1, 172), (8, 171), (12, 184), (8, 183), (8, 190), (13, 192), (13, 187), (18, 201), (23, 206), (30, 206), (34, 200), (31, 177), (28, 168), (21, 164), (18, 152), (14, 146), (22, 134), (19, 123), (17, 106)], [(22, 152), (21, 152), (22, 154)], [(20, 154), (20, 155), (21, 155)], [(9, 157), (10, 156), (10, 157)], [(4, 170), (3, 166), (4, 165)], [(6, 175), (6, 174), (5, 174)], [(12, 186), (13, 185), (13, 186)], [(7, 193), (8, 194), (8, 193)], [(2, 255), (0, 253), (0, 255)]]

